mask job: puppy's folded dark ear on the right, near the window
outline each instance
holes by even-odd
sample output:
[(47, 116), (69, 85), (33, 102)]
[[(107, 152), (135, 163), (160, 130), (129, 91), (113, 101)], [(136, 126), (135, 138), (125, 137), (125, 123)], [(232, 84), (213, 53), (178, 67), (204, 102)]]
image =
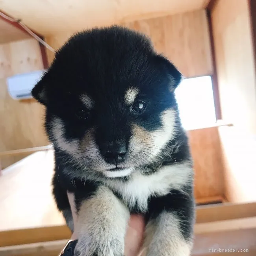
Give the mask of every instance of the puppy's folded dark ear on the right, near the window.
[(167, 75), (170, 79), (170, 90), (171, 92), (174, 92), (176, 87), (180, 84), (183, 76), (180, 73), (180, 71), (169, 61), (167, 58), (165, 58), (162, 55), (156, 56), (159, 63), (161, 63), (161, 67), (166, 70)]

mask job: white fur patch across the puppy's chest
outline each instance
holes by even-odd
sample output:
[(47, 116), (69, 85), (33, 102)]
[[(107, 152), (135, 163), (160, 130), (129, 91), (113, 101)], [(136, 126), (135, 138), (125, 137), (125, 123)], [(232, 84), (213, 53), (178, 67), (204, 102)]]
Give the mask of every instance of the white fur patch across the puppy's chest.
[(171, 189), (182, 190), (184, 184), (192, 182), (192, 172), (190, 163), (178, 163), (163, 166), (151, 175), (134, 173), (128, 182), (109, 181), (107, 185), (121, 195), (127, 206), (137, 204), (139, 210), (146, 211), (148, 197), (166, 195)]

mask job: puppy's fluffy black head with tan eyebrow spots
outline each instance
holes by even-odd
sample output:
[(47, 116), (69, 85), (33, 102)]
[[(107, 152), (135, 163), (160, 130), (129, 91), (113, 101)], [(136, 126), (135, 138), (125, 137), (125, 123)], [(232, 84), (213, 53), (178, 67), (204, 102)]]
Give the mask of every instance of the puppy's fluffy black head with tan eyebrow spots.
[(117, 177), (156, 161), (174, 138), (180, 80), (149, 39), (114, 26), (71, 37), (32, 95), (56, 150)]

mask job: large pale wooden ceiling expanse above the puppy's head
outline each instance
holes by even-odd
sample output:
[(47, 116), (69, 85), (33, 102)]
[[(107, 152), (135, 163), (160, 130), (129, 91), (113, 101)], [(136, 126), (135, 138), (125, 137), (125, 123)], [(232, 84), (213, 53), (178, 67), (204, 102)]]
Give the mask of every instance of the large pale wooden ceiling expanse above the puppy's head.
[(0, 9), (42, 35), (204, 9), (210, 0), (1, 0)]

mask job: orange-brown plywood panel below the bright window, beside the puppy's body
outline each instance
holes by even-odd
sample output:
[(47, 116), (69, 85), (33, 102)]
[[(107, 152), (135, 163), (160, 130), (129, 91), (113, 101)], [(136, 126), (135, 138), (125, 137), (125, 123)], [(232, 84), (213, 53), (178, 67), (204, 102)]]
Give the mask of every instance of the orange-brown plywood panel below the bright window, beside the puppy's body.
[(195, 168), (195, 198), (224, 195), (218, 128), (191, 130), (188, 135)]

